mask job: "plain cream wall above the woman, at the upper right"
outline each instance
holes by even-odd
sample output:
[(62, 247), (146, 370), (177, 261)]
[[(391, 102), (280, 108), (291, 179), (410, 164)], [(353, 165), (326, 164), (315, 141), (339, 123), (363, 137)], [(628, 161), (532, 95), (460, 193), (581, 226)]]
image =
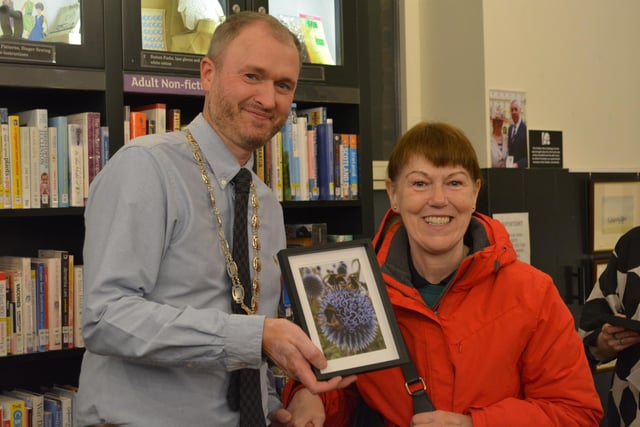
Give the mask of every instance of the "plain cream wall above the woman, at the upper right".
[(564, 167), (640, 170), (640, 1), (402, 0), (401, 17), (403, 130), (456, 124), (488, 167), (488, 91), (525, 91)]

